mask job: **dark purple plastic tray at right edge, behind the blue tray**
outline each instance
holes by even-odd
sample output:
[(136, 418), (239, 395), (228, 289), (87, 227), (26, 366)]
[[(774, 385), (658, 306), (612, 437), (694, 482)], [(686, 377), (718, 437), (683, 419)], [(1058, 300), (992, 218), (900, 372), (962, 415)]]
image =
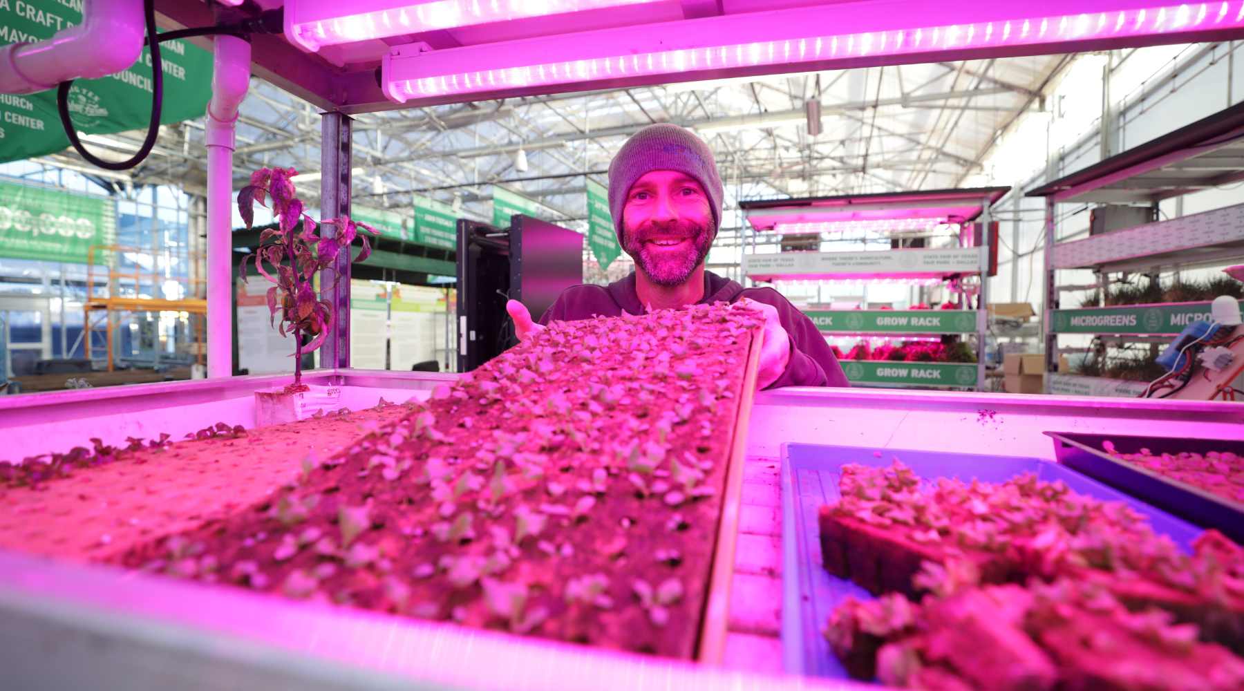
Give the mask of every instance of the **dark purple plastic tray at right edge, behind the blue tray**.
[[(1136, 454), (1141, 449), (1148, 449), (1153, 454), (1233, 451), (1244, 457), (1244, 440), (1123, 436), (1117, 434), (1045, 434), (1054, 439), (1054, 452), (1060, 464), (1192, 523), (1205, 528), (1218, 528), (1227, 537), (1244, 544), (1244, 503), (1132, 465), (1102, 450), (1102, 444), (1110, 441), (1115, 445), (1115, 450), (1122, 454)], [(1244, 435), (1244, 431), (1240, 434)]]

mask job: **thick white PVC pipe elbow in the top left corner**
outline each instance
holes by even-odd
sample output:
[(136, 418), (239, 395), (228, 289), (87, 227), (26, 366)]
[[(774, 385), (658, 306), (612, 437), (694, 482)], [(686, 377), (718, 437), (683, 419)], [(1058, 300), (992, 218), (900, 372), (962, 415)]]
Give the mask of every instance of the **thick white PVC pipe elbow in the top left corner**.
[(143, 0), (86, 0), (82, 24), (0, 47), (0, 93), (36, 93), (128, 68), (143, 50)]

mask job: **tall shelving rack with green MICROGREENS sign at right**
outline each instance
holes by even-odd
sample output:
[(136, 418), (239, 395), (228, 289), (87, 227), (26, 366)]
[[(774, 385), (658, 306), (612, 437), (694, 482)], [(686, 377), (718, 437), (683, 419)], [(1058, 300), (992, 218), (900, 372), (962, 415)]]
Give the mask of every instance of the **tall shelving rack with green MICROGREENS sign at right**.
[[(1146, 385), (1059, 374), (1064, 334), (1108, 337), (1108, 343), (1168, 343), (1192, 321), (1209, 316), (1209, 302), (1113, 307), (1062, 307), (1057, 272), (1092, 270), (1105, 298), (1110, 273), (1142, 273), (1224, 266), (1244, 259), (1244, 204), (1055, 242), (1056, 204), (1127, 204), (1154, 210), (1159, 201), (1244, 180), (1244, 104), (1237, 104), (1095, 165), (1030, 190), (1045, 198), (1046, 393), (1140, 395)], [(1157, 214), (1153, 214), (1154, 217)]]

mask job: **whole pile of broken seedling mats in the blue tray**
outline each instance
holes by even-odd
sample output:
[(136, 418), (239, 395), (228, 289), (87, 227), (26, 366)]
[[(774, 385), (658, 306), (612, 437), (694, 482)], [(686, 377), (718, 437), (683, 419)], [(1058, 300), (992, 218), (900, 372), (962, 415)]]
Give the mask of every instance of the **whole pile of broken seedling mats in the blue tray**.
[[(884, 595), (876, 604), (848, 599), (830, 618), (826, 636), (853, 675), (871, 676), (880, 665), (883, 680), (921, 687), (933, 681), (916, 670), (945, 665), (968, 680), (937, 677), (952, 689), (1229, 689), (1238, 686), (1218, 684), (1244, 679), (1244, 660), (1232, 654), (1244, 649), (1244, 549), (1217, 531), (1186, 554), (1127, 505), (1061, 481), (926, 482), (897, 460), (843, 466), (838, 490), (841, 498), (820, 510), (822, 563)], [(1060, 580), (1076, 585), (1039, 585)], [(1015, 604), (1069, 588), (1088, 590), (1045, 609)], [(1013, 592), (1026, 594), (1005, 595)], [(924, 599), (914, 608), (907, 598)], [(1050, 608), (1061, 619), (1041, 614)], [(1153, 625), (1138, 629), (1142, 621)], [(887, 636), (906, 643), (883, 655)], [(969, 650), (973, 636), (994, 641), (990, 651)], [(1146, 646), (1146, 636), (1162, 645)], [(1193, 643), (1198, 636), (1205, 645)], [(1179, 645), (1163, 648), (1169, 641)], [(1102, 655), (1108, 664), (1093, 661)], [(1212, 669), (1193, 669), (1210, 661)], [(1151, 662), (1182, 676), (1133, 671)], [(1177, 682), (1195, 674), (1213, 684)]]

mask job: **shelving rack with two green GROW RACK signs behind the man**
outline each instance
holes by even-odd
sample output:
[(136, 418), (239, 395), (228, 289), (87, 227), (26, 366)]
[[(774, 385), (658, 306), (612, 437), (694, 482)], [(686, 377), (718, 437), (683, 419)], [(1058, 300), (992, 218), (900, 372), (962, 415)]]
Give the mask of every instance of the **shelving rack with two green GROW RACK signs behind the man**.
[[(753, 230), (751, 252), (743, 255), (743, 275), (755, 282), (947, 281), (982, 276), (988, 272), (989, 234), (980, 232), (982, 244), (975, 245), (970, 224), (988, 229), (990, 208), (1009, 190), (973, 188), (743, 201), (739, 206)], [(929, 229), (945, 225), (957, 231), (953, 246), (851, 252), (755, 251), (759, 235), (786, 230), (829, 241), (848, 231), (857, 234), (851, 240), (889, 240), (912, 237), (911, 232), (887, 235), (891, 230), (927, 237)], [(975, 334), (975, 363), (842, 360), (842, 370), (852, 384), (985, 390), (986, 283), (979, 283), (975, 309), (807, 309), (805, 313), (827, 336)]]

